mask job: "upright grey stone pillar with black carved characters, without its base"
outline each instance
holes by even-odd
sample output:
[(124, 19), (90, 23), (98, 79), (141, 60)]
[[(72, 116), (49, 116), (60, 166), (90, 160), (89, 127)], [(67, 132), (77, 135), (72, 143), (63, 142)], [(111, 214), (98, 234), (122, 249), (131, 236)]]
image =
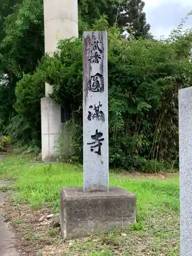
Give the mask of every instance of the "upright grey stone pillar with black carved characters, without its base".
[[(88, 143), (93, 143), (93, 144), (88, 144)], [(84, 191), (108, 191), (109, 189), (109, 145), (108, 143), (109, 142), (108, 142), (107, 33), (106, 32), (84, 32), (84, 39), (83, 39), (83, 188), (84, 188)], [(93, 146), (96, 146), (96, 147), (93, 147)]]

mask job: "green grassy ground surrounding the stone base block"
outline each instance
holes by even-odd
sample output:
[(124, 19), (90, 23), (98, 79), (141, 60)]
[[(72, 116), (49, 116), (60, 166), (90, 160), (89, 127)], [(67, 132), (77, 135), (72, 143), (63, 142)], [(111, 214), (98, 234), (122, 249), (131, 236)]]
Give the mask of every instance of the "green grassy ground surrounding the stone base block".
[[(21, 204), (19, 207), (29, 205), (38, 208), (31, 211), (31, 215), (34, 214), (36, 219), (42, 214), (39, 208), (44, 211), (45, 205), (46, 209), (52, 212), (59, 211), (59, 193), (62, 186), (82, 185), (81, 166), (45, 165), (36, 162), (33, 157), (26, 156), (7, 157), (0, 163), (0, 176), (14, 180), (16, 193), (12, 195), (12, 201), (15, 211), (18, 204)], [(27, 255), (179, 255), (179, 178), (174, 175), (167, 180), (163, 179), (154, 176), (136, 180), (126, 173), (111, 174), (110, 185), (119, 185), (136, 195), (136, 224), (123, 233), (113, 230), (108, 234), (60, 245), (59, 231), (47, 228), (46, 233), (51, 237), (51, 244), (41, 243), (44, 248), (39, 247), (38, 252)], [(28, 211), (30, 210), (29, 208)], [(16, 219), (14, 222), (20, 224)], [(30, 236), (28, 242), (37, 243), (38, 239), (34, 239), (37, 233)]]

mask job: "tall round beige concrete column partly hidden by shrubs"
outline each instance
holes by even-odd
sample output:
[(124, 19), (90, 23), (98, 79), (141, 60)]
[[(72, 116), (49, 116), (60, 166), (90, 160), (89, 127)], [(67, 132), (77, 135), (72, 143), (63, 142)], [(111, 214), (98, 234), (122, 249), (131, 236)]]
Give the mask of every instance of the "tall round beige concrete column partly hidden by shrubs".
[[(44, 0), (45, 52), (53, 55), (60, 39), (78, 37), (77, 0)], [(41, 99), (42, 160), (54, 161), (54, 147), (61, 133), (61, 108), (50, 97), (53, 87), (48, 83), (46, 97)]]

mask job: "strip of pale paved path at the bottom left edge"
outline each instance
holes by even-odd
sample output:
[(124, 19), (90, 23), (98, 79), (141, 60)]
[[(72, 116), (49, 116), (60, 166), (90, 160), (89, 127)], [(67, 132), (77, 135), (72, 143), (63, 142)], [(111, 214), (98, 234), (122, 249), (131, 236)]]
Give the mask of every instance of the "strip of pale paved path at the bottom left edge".
[[(0, 180), (0, 186), (1, 185), (4, 185), (4, 183)], [(5, 193), (0, 192), (0, 255), (18, 256), (19, 254), (14, 248), (15, 235), (9, 223), (5, 222), (5, 219), (3, 217), (4, 212), (1, 208), (1, 205), (4, 203), (5, 195)]]

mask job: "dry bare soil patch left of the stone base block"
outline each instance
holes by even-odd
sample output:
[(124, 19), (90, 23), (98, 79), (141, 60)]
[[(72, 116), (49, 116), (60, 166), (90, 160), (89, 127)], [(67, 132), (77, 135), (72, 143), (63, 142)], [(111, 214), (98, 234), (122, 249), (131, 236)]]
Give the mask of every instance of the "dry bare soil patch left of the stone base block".
[[(10, 222), (16, 234), (16, 248), (20, 255), (43, 255), (41, 249), (61, 242), (59, 228), (51, 228), (51, 220), (39, 221), (50, 214), (50, 208), (31, 209), (27, 204), (15, 206), (9, 199), (3, 206), (6, 222)], [(56, 216), (57, 218), (57, 216)]]

